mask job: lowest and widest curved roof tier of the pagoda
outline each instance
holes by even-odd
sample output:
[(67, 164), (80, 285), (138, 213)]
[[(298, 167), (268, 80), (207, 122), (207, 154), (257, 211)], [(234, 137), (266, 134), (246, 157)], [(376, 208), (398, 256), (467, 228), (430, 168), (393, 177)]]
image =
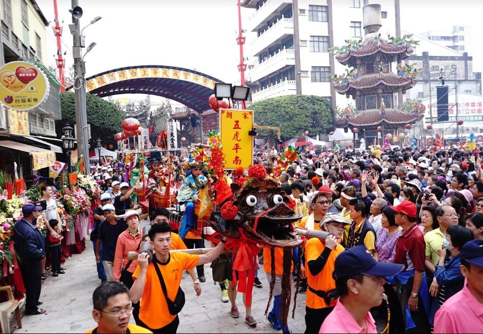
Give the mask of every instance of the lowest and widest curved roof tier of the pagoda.
[(420, 121), (424, 117), (424, 113), (407, 113), (401, 109), (386, 108), (384, 112), (381, 109), (363, 110), (357, 115), (350, 118), (336, 119), (336, 127), (346, 126), (375, 126), (386, 122), (394, 127), (396, 124), (407, 124)]

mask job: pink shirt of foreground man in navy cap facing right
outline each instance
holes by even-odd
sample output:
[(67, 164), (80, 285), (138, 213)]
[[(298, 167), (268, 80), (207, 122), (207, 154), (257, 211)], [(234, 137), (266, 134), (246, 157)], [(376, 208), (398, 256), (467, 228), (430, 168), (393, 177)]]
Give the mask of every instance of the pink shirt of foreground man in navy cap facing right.
[(352, 318), (339, 298), (336, 307), (325, 318), (319, 333), (377, 333), (376, 324), (370, 312), (367, 313), (364, 322), (365, 330)]

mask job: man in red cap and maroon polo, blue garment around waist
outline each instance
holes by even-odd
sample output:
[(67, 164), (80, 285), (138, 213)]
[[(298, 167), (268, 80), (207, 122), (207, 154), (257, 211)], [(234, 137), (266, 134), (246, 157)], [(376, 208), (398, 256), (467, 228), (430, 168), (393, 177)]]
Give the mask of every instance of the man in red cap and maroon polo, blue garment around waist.
[(417, 208), (407, 200), (389, 208), (394, 212), (396, 225), (403, 230), (396, 243), (394, 263), (404, 265), (404, 269), (389, 279), (389, 283), (396, 286), (403, 310), (395, 317), (404, 319), (406, 333), (425, 333), (428, 330), (429, 293), (424, 274), (425, 243), (417, 224)]

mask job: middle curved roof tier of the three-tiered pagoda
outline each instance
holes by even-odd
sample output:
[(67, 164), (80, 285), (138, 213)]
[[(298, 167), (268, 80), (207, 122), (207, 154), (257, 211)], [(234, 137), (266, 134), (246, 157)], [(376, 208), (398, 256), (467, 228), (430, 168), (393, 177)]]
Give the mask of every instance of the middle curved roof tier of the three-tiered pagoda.
[(346, 80), (343, 84), (335, 84), (334, 88), (339, 94), (351, 95), (356, 98), (356, 91), (359, 94), (371, 94), (380, 92), (401, 91), (405, 94), (406, 89), (414, 87), (418, 83), (417, 79), (402, 77), (393, 73), (374, 73), (358, 76), (356, 80)]

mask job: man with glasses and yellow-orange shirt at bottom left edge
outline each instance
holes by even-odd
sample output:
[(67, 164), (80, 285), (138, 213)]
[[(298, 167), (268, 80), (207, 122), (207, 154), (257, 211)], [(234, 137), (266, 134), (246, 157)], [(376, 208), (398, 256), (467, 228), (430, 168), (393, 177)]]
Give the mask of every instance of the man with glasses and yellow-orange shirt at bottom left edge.
[(86, 333), (152, 333), (143, 327), (130, 324), (133, 306), (129, 290), (120, 282), (107, 282), (92, 293), (92, 318), (97, 327)]

